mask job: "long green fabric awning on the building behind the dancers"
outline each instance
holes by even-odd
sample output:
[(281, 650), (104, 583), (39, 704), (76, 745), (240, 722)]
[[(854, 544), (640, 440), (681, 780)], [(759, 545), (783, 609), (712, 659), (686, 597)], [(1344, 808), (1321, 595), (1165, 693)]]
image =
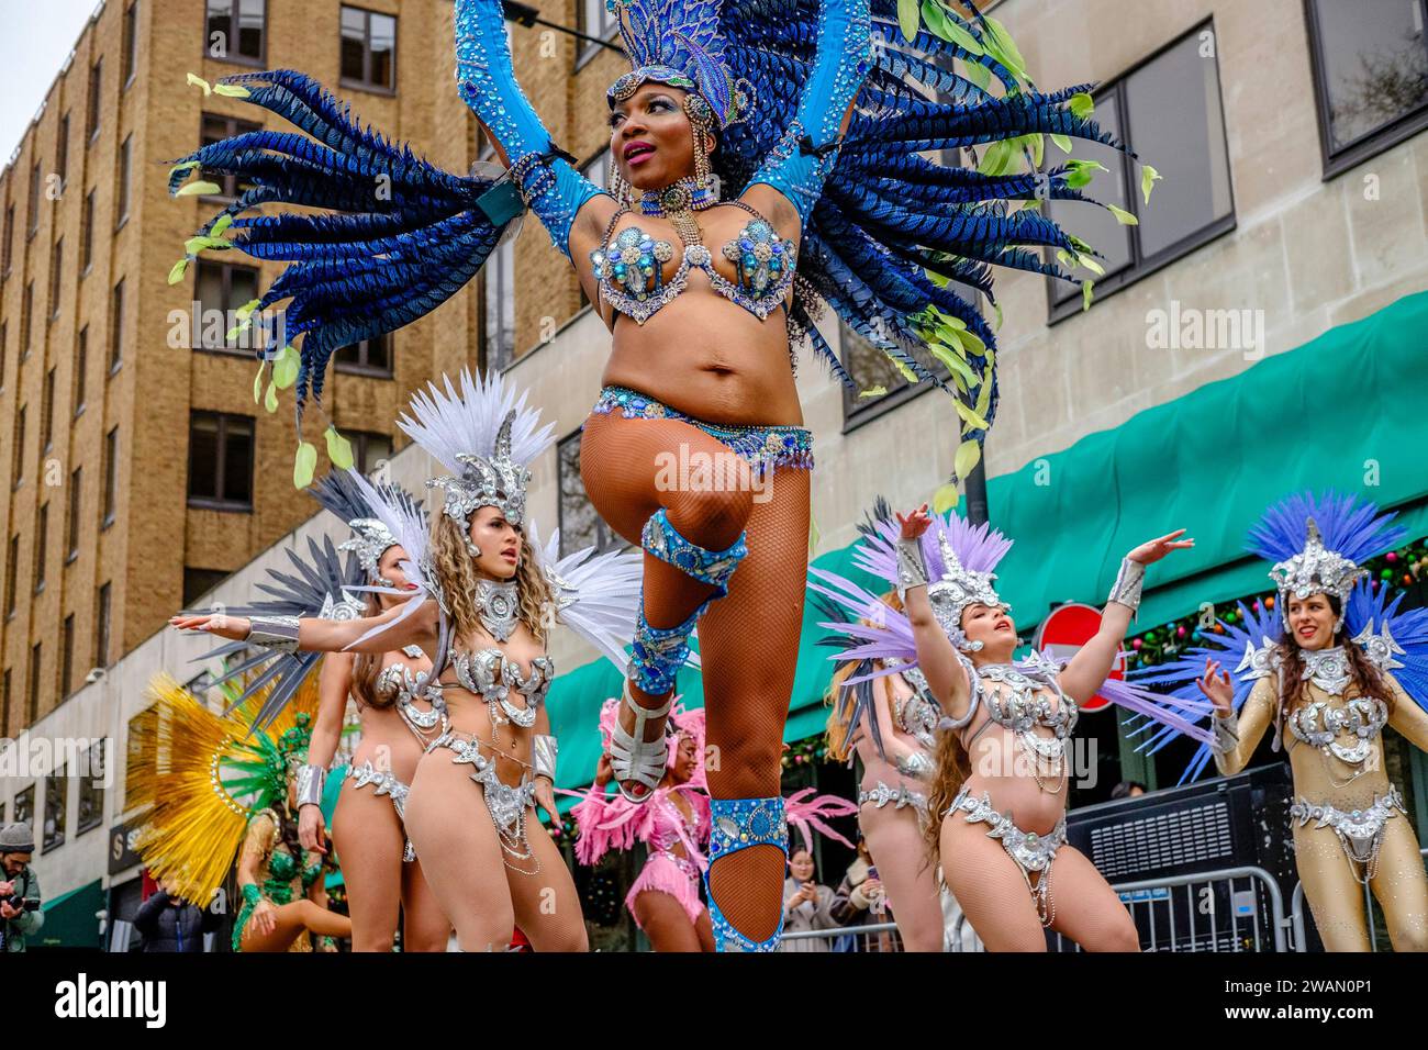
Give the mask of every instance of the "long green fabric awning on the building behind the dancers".
[[(1428, 534), (1428, 410), (1415, 379), (1428, 374), (1424, 333), (1428, 293), (1407, 296), (991, 479), (990, 517), (1015, 539), (997, 586), (1018, 627), (1034, 627), (1062, 601), (1101, 604), (1125, 551), (1178, 527), (1190, 530), (1195, 547), (1151, 567), (1142, 629), (1202, 601), (1265, 591), (1265, 567), (1244, 553), (1245, 533), (1267, 506), (1304, 489), (1361, 493), (1398, 510), (1414, 537)], [(867, 493), (867, 501), (875, 494)], [(851, 547), (814, 564), (877, 586), (853, 567)], [(818, 619), (805, 606), (785, 740), (817, 733), (827, 719), (823, 694), (833, 664), (830, 650), (817, 644), (827, 634)], [(595, 717), (620, 684), (607, 660), (551, 684), (561, 787), (594, 776)], [(703, 706), (698, 671), (680, 671), (678, 691), (688, 707)]]

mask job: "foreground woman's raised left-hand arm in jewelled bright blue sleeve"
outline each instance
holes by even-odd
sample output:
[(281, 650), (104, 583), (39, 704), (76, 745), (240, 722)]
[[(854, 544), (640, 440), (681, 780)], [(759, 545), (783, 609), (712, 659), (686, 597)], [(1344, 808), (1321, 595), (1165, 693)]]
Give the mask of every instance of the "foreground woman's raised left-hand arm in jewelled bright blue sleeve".
[[(581, 224), (603, 224), (598, 217), (581, 216), (584, 206), (603, 193), (574, 169), (570, 154), (555, 147), (521, 91), (506, 40), (501, 0), (457, 0), (456, 79), (461, 99), (510, 166), (521, 199), (545, 226), (551, 243), (570, 257), (570, 231), (577, 217)], [(614, 201), (608, 197), (604, 201), (608, 217)]]

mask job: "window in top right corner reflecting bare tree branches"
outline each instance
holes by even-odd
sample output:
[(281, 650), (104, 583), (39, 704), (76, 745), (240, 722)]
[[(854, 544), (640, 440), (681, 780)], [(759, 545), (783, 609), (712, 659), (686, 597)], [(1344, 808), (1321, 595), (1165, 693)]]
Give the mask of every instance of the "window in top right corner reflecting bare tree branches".
[(1428, 0), (1309, 0), (1324, 176), (1428, 127)]

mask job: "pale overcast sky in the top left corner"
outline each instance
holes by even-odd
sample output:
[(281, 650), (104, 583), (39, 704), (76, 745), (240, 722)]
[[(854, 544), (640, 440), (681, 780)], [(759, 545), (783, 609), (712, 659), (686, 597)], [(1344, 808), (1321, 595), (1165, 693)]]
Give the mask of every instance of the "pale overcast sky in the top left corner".
[(0, 167), (97, 7), (99, 0), (0, 0)]

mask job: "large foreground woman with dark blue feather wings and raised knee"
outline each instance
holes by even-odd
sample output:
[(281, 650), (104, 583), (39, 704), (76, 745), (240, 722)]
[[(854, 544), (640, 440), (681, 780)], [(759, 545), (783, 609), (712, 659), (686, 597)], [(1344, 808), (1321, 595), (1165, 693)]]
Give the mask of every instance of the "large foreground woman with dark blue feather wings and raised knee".
[[(1047, 134), (1118, 143), (1087, 119), (1084, 87), (1037, 90), (1000, 24), (945, 0), (921, 6), (925, 23), (915, 7), (900, 21), (894, 0), (607, 4), (633, 64), (608, 91), (613, 194), (575, 171), (521, 93), (500, 0), (457, 0), (456, 27), (458, 89), (508, 164), (501, 179), (440, 171), (356, 127), (301, 74), (277, 71), (214, 90), (313, 139), (257, 131), (206, 146), (180, 161), (173, 187), (194, 191), (178, 186), (198, 166), (253, 187), (190, 249), (291, 260), (251, 306), (291, 300), (286, 333), (301, 347), (281, 350), (274, 380), (296, 383), (300, 413), (320, 403), (337, 347), (436, 309), (523, 206), (545, 224), (614, 334), (583, 479), (601, 517), (647, 551), (611, 744), (617, 781), (633, 800), (660, 783), (674, 671), (700, 621), (720, 756), (711, 914), (720, 944), (767, 950), (781, 914), (778, 756), (813, 464), (794, 344), (807, 336), (853, 383), (813, 326), (818, 301), (831, 304), (908, 380), (952, 396), (975, 450), (997, 404), (995, 340), (950, 283), (992, 299), (992, 264), (1070, 277), (1032, 249), (1094, 254), (1037, 210), (1082, 200), (1087, 169), (1005, 174), (1005, 161), (1018, 150), (1040, 161)], [(984, 144), (997, 154), (981, 171), (922, 156)], [(374, 199), (374, 183), (390, 193)], [(246, 214), (270, 201), (336, 214)], [(316, 454), (303, 451), (300, 467)], [(675, 461), (697, 476), (671, 479)]]

